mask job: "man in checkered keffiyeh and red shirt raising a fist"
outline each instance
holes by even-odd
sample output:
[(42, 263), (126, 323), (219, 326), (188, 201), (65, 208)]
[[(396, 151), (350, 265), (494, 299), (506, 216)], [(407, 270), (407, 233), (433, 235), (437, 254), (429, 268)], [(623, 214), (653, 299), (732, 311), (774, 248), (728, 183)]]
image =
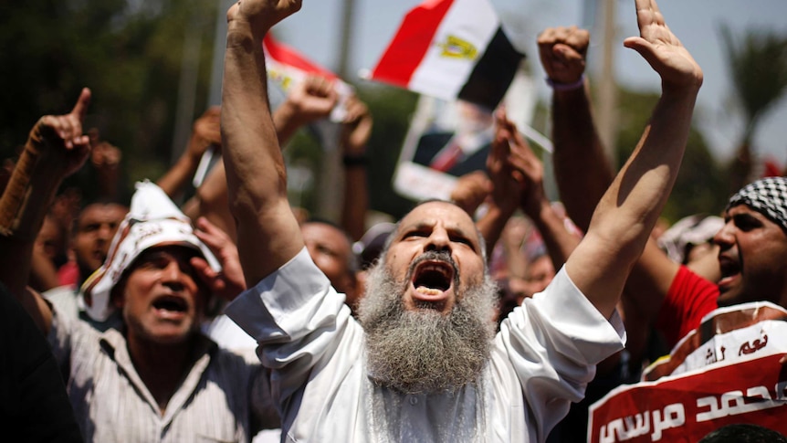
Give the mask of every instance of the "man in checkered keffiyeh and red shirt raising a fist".
[[(580, 81), (589, 44), (589, 33), (575, 26), (550, 28), (539, 37), (541, 64), (551, 82), (561, 85), (552, 91), (555, 180), (568, 215), (582, 229), (614, 177), (595, 132), (588, 89)], [(718, 281), (673, 261), (656, 240), (649, 241), (625, 284), (624, 301), (632, 307), (627, 330), (636, 333), (653, 324), (671, 348), (719, 306), (746, 301), (787, 306), (785, 214), (785, 177), (762, 179), (734, 195), (713, 238), (720, 248)], [(642, 356), (637, 343), (645, 342), (629, 343), (632, 361)]]

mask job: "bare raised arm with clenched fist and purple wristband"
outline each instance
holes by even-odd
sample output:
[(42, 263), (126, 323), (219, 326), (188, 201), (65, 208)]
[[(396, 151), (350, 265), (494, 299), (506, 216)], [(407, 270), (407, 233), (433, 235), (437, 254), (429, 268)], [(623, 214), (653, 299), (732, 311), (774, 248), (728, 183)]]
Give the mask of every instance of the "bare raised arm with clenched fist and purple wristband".
[[(554, 85), (555, 178), (567, 213), (583, 231), (588, 229), (595, 206), (614, 178), (595, 131), (587, 85), (582, 81), (589, 43), (588, 32), (575, 26), (550, 28), (539, 36), (541, 64)], [(654, 320), (676, 274), (677, 264), (648, 239), (626, 281), (628, 317), (633, 314), (631, 309), (636, 309)]]

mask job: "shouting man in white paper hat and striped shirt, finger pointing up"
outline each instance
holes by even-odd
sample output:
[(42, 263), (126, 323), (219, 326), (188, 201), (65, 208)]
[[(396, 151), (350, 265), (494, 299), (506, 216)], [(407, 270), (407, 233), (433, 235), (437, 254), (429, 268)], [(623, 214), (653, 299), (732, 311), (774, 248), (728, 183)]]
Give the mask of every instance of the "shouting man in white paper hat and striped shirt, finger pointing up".
[[(31, 166), (12, 177), (0, 202), (5, 265), (0, 281), (48, 334), (67, 374), (82, 436), (100, 442), (248, 441), (262, 427), (278, 427), (262, 367), (219, 349), (199, 332), (211, 294), (237, 290), (199, 238), (218, 247), (212, 233), (194, 232), (156, 185), (137, 186), (107, 260), (84, 287), (89, 314), (103, 320), (117, 309), (121, 330), (98, 332), (87, 322), (58, 316), (24, 289), (33, 238), (27, 230), (40, 226), (47, 198), (89, 152), (80, 136), (87, 94), (71, 114), (39, 122), (40, 137), (28, 142), (36, 149), (26, 157)], [(17, 189), (27, 195), (20, 205), (6, 198)], [(224, 249), (219, 256), (224, 272), (235, 269), (237, 278), (231, 252)]]

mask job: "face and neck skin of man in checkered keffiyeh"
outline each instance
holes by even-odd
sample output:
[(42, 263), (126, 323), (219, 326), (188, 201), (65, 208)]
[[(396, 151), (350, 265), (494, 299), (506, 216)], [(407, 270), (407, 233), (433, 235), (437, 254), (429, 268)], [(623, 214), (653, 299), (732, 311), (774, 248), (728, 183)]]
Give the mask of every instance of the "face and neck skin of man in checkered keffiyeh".
[(746, 205), (733, 206), (713, 237), (719, 245), (720, 305), (745, 301), (787, 302), (787, 234)]

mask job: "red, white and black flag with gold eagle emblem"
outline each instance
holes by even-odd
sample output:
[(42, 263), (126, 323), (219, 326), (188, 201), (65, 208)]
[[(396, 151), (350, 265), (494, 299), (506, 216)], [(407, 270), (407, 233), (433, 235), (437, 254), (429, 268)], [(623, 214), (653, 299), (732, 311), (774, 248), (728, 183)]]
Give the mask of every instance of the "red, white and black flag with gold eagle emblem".
[(407, 13), (368, 77), (492, 110), (523, 57), (488, 0), (426, 0)]

